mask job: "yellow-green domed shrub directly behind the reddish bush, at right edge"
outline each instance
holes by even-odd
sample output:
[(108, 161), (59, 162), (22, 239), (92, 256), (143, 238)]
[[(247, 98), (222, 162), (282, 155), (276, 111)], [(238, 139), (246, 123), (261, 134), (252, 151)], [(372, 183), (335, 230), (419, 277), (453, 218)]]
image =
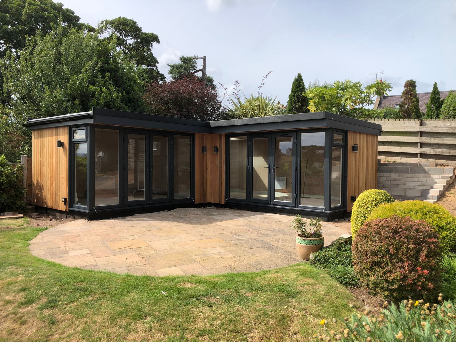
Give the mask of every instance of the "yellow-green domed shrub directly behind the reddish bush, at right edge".
[(442, 253), (456, 249), (456, 218), (440, 204), (425, 201), (396, 201), (378, 206), (368, 216), (367, 221), (375, 218), (387, 218), (391, 215), (410, 217), (429, 223), (440, 235)]

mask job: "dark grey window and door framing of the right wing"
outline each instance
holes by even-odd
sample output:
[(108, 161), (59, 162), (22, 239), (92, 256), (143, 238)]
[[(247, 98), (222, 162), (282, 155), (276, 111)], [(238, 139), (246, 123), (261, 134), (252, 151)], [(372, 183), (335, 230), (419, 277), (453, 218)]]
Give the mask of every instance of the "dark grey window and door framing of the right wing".
[[(313, 206), (304, 206), (300, 204), (300, 191), (301, 188), (301, 133), (316, 133), (316, 132), (324, 132), (325, 133), (325, 164), (324, 164), (324, 185), (323, 185), (323, 207), (313, 207)], [(295, 148), (294, 148), (294, 168), (295, 168), (295, 185), (293, 187), (294, 192), (294, 205), (283, 205), (278, 203), (277, 201), (271, 202), (270, 195), (268, 195), (268, 201), (255, 201), (251, 200), (251, 186), (252, 186), (252, 176), (251, 170), (252, 165), (252, 151), (253, 145), (252, 141), (255, 137), (272, 137), (269, 143), (274, 144), (274, 138), (277, 135), (295, 135)], [(343, 137), (343, 143), (335, 143), (333, 140), (333, 134), (339, 134)], [(237, 136), (247, 136), (247, 189), (246, 189), (246, 199), (239, 199), (239, 198), (230, 198), (229, 191), (230, 191), (230, 138), (237, 137)], [(290, 130), (290, 131), (267, 131), (262, 133), (248, 133), (248, 132), (239, 132), (233, 134), (226, 134), (226, 148), (225, 148), (225, 203), (228, 204), (249, 204), (249, 205), (260, 205), (260, 206), (278, 206), (283, 208), (295, 208), (301, 209), (303, 211), (310, 211), (310, 212), (322, 212), (325, 214), (329, 214), (335, 211), (342, 211), (347, 208), (347, 131), (345, 130), (334, 130), (330, 128), (320, 128), (320, 129), (304, 129), (304, 130)], [(341, 198), (341, 205), (337, 207), (331, 207), (331, 168), (332, 168), (332, 147), (342, 147), (342, 198)], [(274, 155), (272, 151), (273, 146), (269, 147), (269, 159)], [(250, 167), (250, 170), (249, 170)], [(269, 188), (269, 193), (271, 192)]]

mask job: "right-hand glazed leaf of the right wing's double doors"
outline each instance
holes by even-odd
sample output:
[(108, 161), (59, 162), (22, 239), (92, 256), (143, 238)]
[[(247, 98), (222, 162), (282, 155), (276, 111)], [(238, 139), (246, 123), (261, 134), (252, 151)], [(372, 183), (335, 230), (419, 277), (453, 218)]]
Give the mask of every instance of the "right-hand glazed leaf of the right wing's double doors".
[(281, 205), (294, 205), (295, 153), (293, 140), (295, 137), (273, 137), (273, 161), (271, 165), (273, 202)]

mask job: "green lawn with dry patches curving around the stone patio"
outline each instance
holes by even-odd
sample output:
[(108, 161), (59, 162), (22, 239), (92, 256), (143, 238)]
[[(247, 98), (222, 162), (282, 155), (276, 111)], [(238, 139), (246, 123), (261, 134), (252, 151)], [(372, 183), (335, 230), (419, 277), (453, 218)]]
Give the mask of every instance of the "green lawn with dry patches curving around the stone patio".
[(0, 341), (313, 341), (322, 318), (360, 307), (308, 264), (208, 277), (69, 268), (30, 254), (43, 228), (14, 224), (0, 230)]

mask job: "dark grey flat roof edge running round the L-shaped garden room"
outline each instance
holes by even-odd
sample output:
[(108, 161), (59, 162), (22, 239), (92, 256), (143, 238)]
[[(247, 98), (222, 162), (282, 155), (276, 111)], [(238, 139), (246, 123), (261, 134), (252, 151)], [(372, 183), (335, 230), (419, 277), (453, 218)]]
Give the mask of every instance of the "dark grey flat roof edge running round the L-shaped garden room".
[(107, 124), (123, 127), (172, 130), (192, 133), (242, 133), (272, 130), (328, 127), (380, 135), (382, 126), (329, 112), (284, 114), (249, 119), (200, 121), (171, 116), (128, 112), (93, 107), (90, 112), (27, 119), (24, 126), (31, 130), (77, 124)]

